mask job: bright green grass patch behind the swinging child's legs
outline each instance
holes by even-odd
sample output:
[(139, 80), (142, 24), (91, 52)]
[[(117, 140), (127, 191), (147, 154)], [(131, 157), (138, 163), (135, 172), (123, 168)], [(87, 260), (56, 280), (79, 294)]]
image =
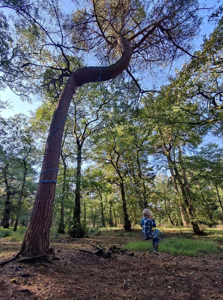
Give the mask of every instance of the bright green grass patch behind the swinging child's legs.
[[(123, 246), (129, 251), (152, 251), (152, 241), (131, 242)], [(215, 241), (195, 240), (188, 238), (172, 238), (160, 241), (159, 252), (181, 254), (186, 256), (200, 256), (203, 253), (220, 253), (222, 250)]]

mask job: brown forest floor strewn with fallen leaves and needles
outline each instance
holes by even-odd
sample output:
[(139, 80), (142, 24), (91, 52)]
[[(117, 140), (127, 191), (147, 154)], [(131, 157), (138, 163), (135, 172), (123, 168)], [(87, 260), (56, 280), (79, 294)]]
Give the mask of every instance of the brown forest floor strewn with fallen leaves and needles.
[[(169, 253), (157, 256), (147, 251), (129, 256), (126, 251), (102, 258), (78, 250), (92, 251), (89, 243), (107, 249), (141, 240), (139, 229), (133, 229), (131, 236), (121, 236), (123, 230), (110, 232), (110, 236), (102, 230), (98, 236), (77, 240), (52, 238), (51, 247), (60, 258), (53, 260), (53, 264), (15, 260), (0, 267), (0, 300), (223, 299), (222, 253), (189, 257)], [(0, 239), (0, 260), (11, 258), (20, 246), (21, 242)]]

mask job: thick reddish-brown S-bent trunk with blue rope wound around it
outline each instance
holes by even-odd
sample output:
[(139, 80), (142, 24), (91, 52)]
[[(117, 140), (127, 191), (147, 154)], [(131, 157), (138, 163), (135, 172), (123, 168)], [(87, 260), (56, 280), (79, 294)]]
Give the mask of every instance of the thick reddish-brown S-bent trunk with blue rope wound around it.
[(117, 35), (117, 43), (123, 54), (115, 64), (109, 67), (83, 67), (76, 70), (67, 80), (61, 92), (46, 142), (34, 207), (20, 249), (23, 256), (36, 256), (51, 252), (49, 249), (49, 229), (56, 186), (54, 181), (58, 175), (64, 123), (70, 102), (78, 86), (88, 82), (96, 82), (99, 76), (102, 81), (113, 79), (128, 67), (132, 47), (121, 35)]

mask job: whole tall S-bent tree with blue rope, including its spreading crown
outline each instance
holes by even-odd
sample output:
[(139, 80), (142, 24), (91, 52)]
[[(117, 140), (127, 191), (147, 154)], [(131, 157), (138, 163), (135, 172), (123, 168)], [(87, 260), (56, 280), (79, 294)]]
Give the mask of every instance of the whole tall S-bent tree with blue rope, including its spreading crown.
[[(58, 98), (43, 158), (40, 180), (48, 180), (48, 183), (38, 185), (31, 220), (20, 251), (24, 256), (35, 256), (49, 253), (49, 226), (55, 193), (55, 182), (52, 179), (55, 181), (58, 174), (63, 120), (76, 88), (87, 82), (96, 82), (99, 78), (102, 81), (113, 79), (129, 65), (135, 69), (140, 69), (142, 63), (145, 64), (144, 69), (152, 64), (156, 67), (179, 58), (182, 52), (189, 53), (190, 43), (198, 33), (201, 18), (195, 0), (164, 3), (159, 0), (155, 3), (146, 1), (144, 5), (135, 0), (87, 1), (85, 9), (77, 10), (66, 26), (62, 26), (63, 15), (55, 2), (6, 0), (2, 3), (19, 16), (19, 20), (16, 20), (17, 32), (24, 29), (26, 37), (31, 33), (26, 43), (21, 39), (23, 47), (16, 47), (16, 55), (12, 55), (11, 59), (14, 72), (5, 72), (4, 82), (24, 92), (27, 78), (38, 80), (42, 78), (40, 74), (43, 74), (43, 69), (53, 69), (49, 64), (49, 49), (52, 49), (50, 54), (60, 52), (66, 68), (58, 63), (61, 76), (56, 79), (49, 77), (48, 83), (53, 84), (69, 77)], [(52, 32), (49, 28), (52, 29), (54, 21), (57, 26), (55, 32)], [(69, 50), (91, 50), (107, 66), (70, 70), (66, 55)], [(45, 61), (48, 63), (45, 64)], [(32, 85), (29, 87), (33, 88)], [(45, 171), (48, 172), (43, 173)], [(39, 228), (44, 228), (44, 232), (40, 232)]]

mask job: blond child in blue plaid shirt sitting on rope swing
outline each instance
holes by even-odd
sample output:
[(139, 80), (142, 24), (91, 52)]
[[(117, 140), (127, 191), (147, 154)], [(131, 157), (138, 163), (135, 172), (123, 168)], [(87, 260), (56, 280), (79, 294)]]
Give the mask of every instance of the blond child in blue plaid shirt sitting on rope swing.
[(153, 219), (153, 215), (148, 208), (145, 208), (142, 212), (143, 218), (141, 219), (140, 225), (144, 234), (145, 240), (152, 239), (153, 241), (153, 253), (159, 255), (159, 235), (152, 230), (152, 227), (156, 227), (156, 222)]

